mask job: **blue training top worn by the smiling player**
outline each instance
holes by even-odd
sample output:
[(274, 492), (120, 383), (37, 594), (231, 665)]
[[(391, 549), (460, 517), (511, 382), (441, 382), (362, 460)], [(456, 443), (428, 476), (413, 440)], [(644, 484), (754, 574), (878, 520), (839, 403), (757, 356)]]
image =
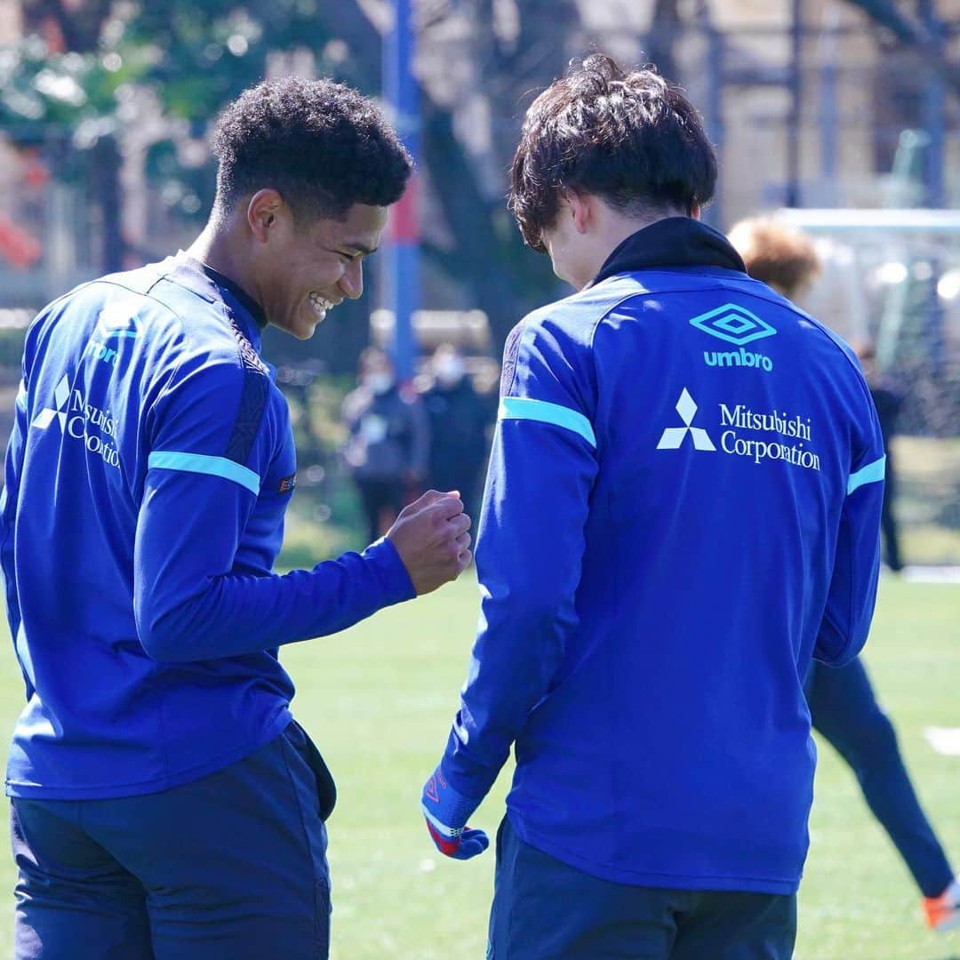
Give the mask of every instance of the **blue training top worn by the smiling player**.
[(414, 595), (389, 540), (271, 573), (297, 471), (257, 304), (180, 253), (27, 333), (0, 559), (27, 705), (7, 792), (164, 790), (289, 723), (283, 643)]

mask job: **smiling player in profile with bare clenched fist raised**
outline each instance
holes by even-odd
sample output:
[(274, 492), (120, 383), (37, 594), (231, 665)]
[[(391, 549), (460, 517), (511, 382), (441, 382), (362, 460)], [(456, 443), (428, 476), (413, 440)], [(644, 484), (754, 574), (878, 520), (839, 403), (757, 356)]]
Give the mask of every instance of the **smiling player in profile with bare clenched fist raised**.
[(285, 643), (470, 561), (459, 497), (272, 572), (297, 471), (260, 355), (363, 289), (410, 157), (370, 100), (288, 78), (220, 118), (187, 252), (84, 284), (27, 333), (0, 559), (27, 704), (7, 769), (17, 958), (325, 957), (333, 780)]

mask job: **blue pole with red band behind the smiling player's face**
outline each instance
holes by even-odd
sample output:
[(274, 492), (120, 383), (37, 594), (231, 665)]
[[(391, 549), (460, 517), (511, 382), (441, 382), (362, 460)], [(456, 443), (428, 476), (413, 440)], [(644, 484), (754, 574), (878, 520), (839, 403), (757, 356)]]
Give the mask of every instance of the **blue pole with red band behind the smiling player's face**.
[[(394, 109), (396, 130), (415, 162), (420, 160), (420, 102), (413, 73), (416, 37), (412, 0), (394, 0), (394, 25), (384, 37), (384, 93)], [(397, 376), (414, 373), (413, 313), (420, 306), (420, 219), (417, 176), (390, 214), (386, 250), (386, 304), (394, 311), (392, 352)]]

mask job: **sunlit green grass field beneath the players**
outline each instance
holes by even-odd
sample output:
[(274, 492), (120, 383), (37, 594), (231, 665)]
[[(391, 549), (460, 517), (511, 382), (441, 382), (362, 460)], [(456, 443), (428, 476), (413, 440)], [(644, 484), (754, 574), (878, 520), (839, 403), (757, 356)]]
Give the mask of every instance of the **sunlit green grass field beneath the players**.
[[(298, 684), (297, 715), (340, 789), (328, 825), (336, 960), (484, 955), (492, 852), (468, 863), (445, 860), (419, 813), (420, 784), (440, 756), (456, 708), (477, 607), (467, 577), (341, 636), (283, 654)], [(923, 735), (926, 726), (960, 727), (958, 623), (960, 587), (886, 578), (867, 661), (924, 805), (960, 861), (960, 756), (937, 756)], [(21, 689), (8, 654), (0, 671), (5, 730), (12, 728)], [(825, 744), (820, 756), (798, 960), (960, 956), (960, 933), (925, 930), (913, 884), (849, 770)], [(508, 776), (473, 817), (474, 826), (496, 828)], [(0, 886), (12, 884), (5, 855)], [(12, 953), (12, 912), (5, 916), (0, 956)]]

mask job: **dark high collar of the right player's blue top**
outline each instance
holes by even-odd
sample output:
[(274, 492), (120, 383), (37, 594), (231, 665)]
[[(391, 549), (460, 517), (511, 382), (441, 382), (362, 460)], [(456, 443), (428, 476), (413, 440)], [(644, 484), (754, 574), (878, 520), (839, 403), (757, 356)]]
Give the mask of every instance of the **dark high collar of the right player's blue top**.
[(655, 267), (721, 267), (747, 272), (742, 257), (719, 230), (692, 217), (667, 217), (627, 237), (607, 257), (593, 283)]

